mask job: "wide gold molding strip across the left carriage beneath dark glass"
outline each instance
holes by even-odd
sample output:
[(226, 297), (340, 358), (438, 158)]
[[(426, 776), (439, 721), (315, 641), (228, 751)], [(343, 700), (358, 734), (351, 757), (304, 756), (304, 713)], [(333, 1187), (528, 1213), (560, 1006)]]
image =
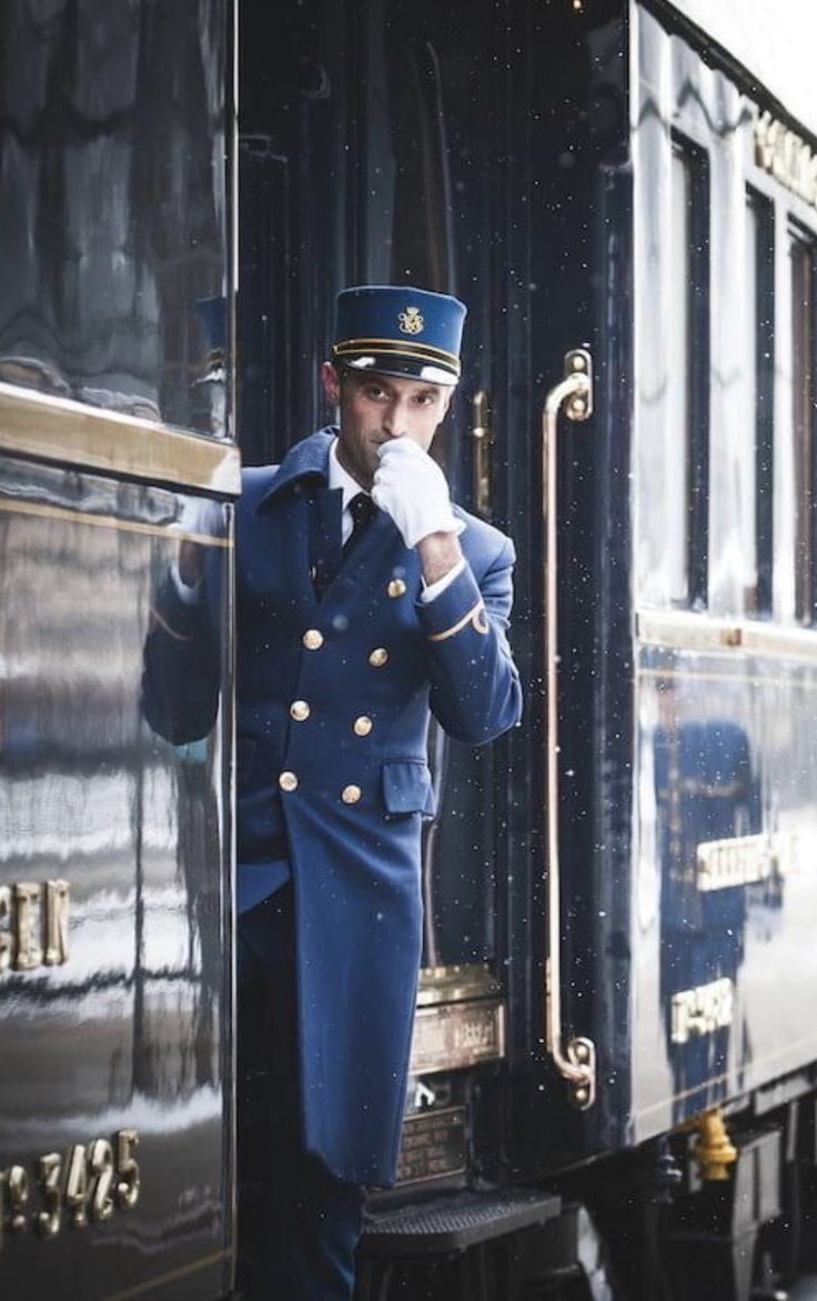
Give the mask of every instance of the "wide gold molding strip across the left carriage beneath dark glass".
[(0, 451), (238, 497), (233, 442), (0, 384)]

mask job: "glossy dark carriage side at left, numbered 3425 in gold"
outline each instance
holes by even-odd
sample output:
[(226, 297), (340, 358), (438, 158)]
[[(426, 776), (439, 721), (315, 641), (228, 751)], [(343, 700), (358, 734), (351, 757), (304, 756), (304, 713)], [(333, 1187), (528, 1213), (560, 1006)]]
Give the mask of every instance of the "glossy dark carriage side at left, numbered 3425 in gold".
[[(227, 18), (0, 13), (0, 1291), (21, 1301), (233, 1285)], [(174, 747), (142, 648), (201, 501), (222, 705)]]

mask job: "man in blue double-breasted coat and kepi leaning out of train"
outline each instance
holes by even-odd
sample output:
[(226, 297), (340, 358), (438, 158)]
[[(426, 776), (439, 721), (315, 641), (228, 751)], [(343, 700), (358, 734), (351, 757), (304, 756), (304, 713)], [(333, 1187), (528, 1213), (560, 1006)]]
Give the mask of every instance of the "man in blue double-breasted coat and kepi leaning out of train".
[[(239, 1051), (270, 1116), (270, 1301), (348, 1297), (361, 1188), (394, 1181), (429, 705), (471, 744), (520, 717), (512, 543), (452, 506), (427, 454), (464, 315), (420, 290), (343, 293), (322, 368), (340, 428), (248, 470), (238, 506)], [(201, 602), (177, 585), (178, 639)]]

